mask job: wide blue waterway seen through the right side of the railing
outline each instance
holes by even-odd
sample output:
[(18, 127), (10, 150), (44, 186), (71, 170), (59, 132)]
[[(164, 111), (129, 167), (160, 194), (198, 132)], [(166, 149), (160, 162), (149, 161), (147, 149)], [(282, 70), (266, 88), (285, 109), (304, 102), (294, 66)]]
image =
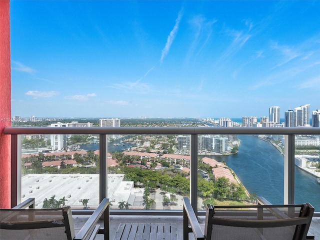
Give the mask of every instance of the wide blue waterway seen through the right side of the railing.
[[(268, 141), (252, 135), (238, 135), (239, 152), (213, 156), (234, 170), (246, 189), (272, 204), (283, 204), (283, 155)], [(320, 210), (320, 184), (316, 177), (295, 167), (295, 202), (310, 202)]]

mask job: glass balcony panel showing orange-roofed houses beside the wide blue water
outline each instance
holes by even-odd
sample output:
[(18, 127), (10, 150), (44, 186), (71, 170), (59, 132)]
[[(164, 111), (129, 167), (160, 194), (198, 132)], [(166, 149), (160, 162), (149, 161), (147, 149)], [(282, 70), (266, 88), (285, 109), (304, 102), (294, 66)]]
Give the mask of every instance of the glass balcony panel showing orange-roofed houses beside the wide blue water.
[(201, 143), (207, 137), (198, 137), (198, 209), (252, 204), (257, 196), (283, 204), (282, 135), (212, 135), (213, 151)]

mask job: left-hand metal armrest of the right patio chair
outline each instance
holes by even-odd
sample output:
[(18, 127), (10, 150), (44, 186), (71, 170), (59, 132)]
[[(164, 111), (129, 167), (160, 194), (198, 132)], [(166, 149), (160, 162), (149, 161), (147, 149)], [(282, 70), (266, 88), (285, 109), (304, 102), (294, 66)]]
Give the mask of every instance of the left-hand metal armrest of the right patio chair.
[[(190, 223), (191, 228), (188, 226)], [(188, 239), (188, 233), (193, 232), (195, 239), (204, 240), (204, 235), (187, 197), (183, 197), (183, 239)]]

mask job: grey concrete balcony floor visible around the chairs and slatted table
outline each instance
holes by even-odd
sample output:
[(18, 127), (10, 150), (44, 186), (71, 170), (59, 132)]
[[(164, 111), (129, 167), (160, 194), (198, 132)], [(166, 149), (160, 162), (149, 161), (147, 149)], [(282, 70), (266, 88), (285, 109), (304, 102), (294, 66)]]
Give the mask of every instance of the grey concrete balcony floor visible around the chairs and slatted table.
[[(75, 231), (79, 230), (88, 217), (85, 215), (74, 215)], [(203, 222), (204, 216), (199, 216), (199, 221)], [(110, 215), (110, 240), (114, 238), (115, 232), (119, 223), (125, 222), (162, 222), (162, 223), (176, 223), (178, 229), (178, 239), (183, 239), (182, 216), (145, 216), (145, 215)], [(320, 217), (313, 217), (309, 228), (309, 233), (314, 235), (315, 240), (320, 240)], [(102, 240), (103, 236), (98, 235), (97, 240)], [(191, 240), (191, 237), (190, 237)]]

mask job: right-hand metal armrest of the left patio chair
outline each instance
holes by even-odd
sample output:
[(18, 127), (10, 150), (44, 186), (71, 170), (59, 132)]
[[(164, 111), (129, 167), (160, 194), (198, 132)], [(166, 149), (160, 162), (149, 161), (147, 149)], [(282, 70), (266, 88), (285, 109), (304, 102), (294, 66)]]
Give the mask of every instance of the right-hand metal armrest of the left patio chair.
[[(90, 238), (94, 229), (96, 229), (97, 221), (103, 218), (104, 228), (98, 232), (104, 234), (104, 239), (109, 239), (109, 199), (103, 198), (98, 207), (94, 210), (89, 219), (85, 222), (82, 228), (74, 237), (74, 240), (83, 240)], [(97, 231), (95, 230), (95, 234)]]

